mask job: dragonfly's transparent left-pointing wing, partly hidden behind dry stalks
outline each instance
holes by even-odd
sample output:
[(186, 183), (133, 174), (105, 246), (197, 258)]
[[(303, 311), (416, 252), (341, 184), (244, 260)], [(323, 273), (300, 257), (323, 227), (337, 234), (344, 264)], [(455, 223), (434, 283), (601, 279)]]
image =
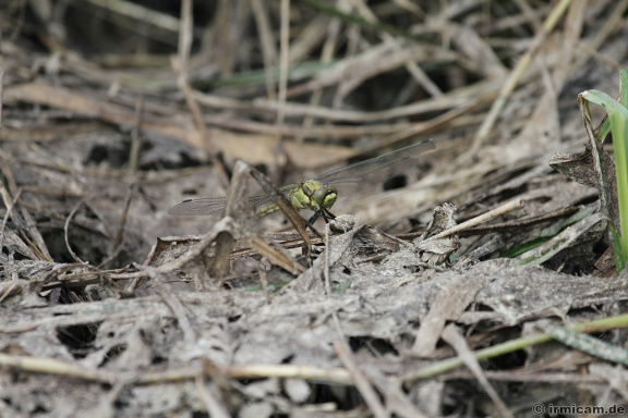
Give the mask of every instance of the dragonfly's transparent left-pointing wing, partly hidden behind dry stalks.
[[(298, 184), (288, 184), (279, 187), (279, 190), (287, 197), (290, 197), (290, 195), (298, 188)], [(276, 205), (273, 202), (273, 196), (266, 193), (250, 195), (249, 200), (261, 216), (266, 216), (277, 210)], [(200, 199), (186, 199), (168, 209), (168, 214), (176, 217), (194, 217), (207, 214), (219, 216), (225, 209), (226, 204), (226, 197), (203, 197)]]

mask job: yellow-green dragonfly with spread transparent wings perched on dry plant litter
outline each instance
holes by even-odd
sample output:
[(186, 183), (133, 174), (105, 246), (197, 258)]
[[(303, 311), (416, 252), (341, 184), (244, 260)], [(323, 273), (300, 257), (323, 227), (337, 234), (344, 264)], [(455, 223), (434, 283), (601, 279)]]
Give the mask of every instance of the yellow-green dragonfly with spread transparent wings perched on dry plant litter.
[[(329, 171), (315, 179), (301, 183), (287, 184), (278, 188), (292, 204), (294, 209), (309, 209), (314, 212), (309, 223), (312, 225), (318, 218), (325, 222), (336, 217), (329, 211), (338, 198), (338, 186), (363, 186), (376, 184), (401, 174), (419, 161), (419, 157), (436, 146), (432, 139), (400, 148), (381, 157), (357, 162)], [(258, 193), (249, 196), (257, 217), (266, 217), (279, 209), (273, 196)], [(168, 210), (171, 216), (219, 216), (227, 204), (226, 197), (203, 197), (183, 200)]]

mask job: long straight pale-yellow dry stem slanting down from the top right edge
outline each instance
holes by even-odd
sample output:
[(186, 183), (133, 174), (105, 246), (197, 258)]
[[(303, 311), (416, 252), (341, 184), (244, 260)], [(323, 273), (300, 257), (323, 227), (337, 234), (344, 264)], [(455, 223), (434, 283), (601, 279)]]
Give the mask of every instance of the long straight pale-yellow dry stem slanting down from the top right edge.
[(508, 98), (510, 97), (510, 95), (519, 84), (519, 81), (526, 73), (526, 70), (532, 62), (532, 57), (534, 57), (536, 52), (539, 52), (539, 50), (543, 46), (543, 40), (545, 39), (545, 36), (554, 29), (556, 24), (559, 22), (559, 20), (567, 11), (569, 4), (571, 4), (571, 1), (572, 0), (561, 0), (552, 10), (550, 15), (543, 23), (542, 30), (536, 33), (536, 36), (528, 47), (528, 51), (526, 51), (523, 57), (521, 57), (515, 69), (510, 72), (508, 79), (499, 90), (499, 97), (493, 102), (488, 115), (486, 116), (484, 122), (482, 122), (482, 126), (480, 126), (480, 131), (478, 131), (478, 134), (473, 139), (473, 144), (470, 150), (462, 157), (464, 160), (472, 158), (478, 152), (480, 147), (484, 144), (484, 142), (488, 137), (488, 134), (495, 126), (497, 119), (502, 114), (502, 110), (504, 110), (504, 107), (506, 106)]

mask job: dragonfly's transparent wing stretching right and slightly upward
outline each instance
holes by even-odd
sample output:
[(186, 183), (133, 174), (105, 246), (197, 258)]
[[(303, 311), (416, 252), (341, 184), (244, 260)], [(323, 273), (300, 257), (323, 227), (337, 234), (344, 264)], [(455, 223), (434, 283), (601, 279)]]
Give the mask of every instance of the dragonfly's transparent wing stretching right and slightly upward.
[(349, 183), (371, 183), (391, 179), (403, 173), (419, 160), (423, 152), (436, 148), (432, 139), (400, 148), (396, 151), (371, 160), (358, 162), (338, 170), (325, 173), (315, 180), (330, 185)]

